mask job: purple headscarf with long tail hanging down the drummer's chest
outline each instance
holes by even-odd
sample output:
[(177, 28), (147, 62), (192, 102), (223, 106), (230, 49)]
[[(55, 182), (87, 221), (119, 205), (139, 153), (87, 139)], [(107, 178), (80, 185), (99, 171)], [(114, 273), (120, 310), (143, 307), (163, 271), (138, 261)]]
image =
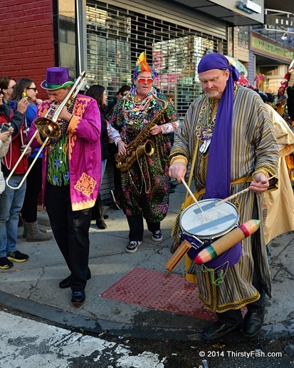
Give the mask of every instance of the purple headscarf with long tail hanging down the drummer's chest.
[(239, 73), (221, 53), (208, 53), (199, 62), (198, 73), (220, 69), (229, 70), (229, 80), (219, 101), (214, 134), (209, 147), (205, 198), (226, 198), (231, 182), (231, 131), (233, 120), (233, 86)]

